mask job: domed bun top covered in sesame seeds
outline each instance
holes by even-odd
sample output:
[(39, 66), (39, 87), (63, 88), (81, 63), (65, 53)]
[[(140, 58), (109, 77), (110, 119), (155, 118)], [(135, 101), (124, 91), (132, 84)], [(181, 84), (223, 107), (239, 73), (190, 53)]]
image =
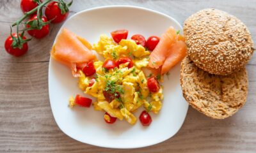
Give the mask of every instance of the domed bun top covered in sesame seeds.
[(215, 75), (239, 71), (253, 54), (253, 41), (246, 25), (225, 11), (208, 8), (184, 22), (190, 59)]

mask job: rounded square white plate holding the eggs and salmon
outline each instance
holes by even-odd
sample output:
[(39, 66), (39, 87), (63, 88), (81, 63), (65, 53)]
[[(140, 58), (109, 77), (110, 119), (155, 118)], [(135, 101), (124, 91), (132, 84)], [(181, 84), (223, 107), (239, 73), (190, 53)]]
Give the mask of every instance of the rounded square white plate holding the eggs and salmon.
[[(62, 27), (76, 33), (90, 43), (97, 43), (100, 34), (108, 34), (116, 29), (128, 29), (132, 34), (143, 34), (145, 38), (161, 36), (172, 25), (182, 31), (180, 24), (168, 15), (134, 6), (104, 6), (81, 11), (70, 17)], [(170, 71), (169, 79), (164, 78), (163, 108), (158, 115), (152, 115), (152, 124), (143, 127), (140, 120), (134, 125), (126, 121), (106, 124), (104, 112), (90, 108), (68, 107), (68, 98), (82, 94), (77, 87), (77, 79), (70, 69), (50, 60), (49, 97), (52, 113), (60, 129), (79, 142), (109, 148), (138, 148), (154, 145), (171, 138), (179, 131), (188, 103), (180, 89), (180, 64)], [(85, 95), (84, 95), (85, 96)], [(141, 109), (142, 110), (142, 109)], [(135, 113), (138, 117), (141, 110)]]

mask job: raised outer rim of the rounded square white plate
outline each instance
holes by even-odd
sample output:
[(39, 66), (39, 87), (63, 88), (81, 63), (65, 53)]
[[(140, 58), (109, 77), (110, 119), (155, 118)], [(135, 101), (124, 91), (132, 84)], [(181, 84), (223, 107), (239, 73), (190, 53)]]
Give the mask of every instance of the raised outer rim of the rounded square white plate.
[[(101, 10), (101, 9), (104, 9), (104, 8), (133, 8), (133, 9), (138, 9), (138, 10), (143, 10), (143, 11), (150, 11), (150, 12), (156, 13), (156, 14), (158, 14), (158, 15), (162, 15), (162, 16), (164, 16), (164, 17), (166, 17), (166, 18), (170, 18), (173, 22), (175, 22), (175, 24), (179, 25), (179, 27), (181, 27), (181, 29), (183, 29), (182, 26), (179, 24), (179, 22), (178, 22), (177, 20), (175, 20), (175, 18), (170, 17), (169, 15), (166, 15), (166, 14), (164, 14), (164, 13), (161, 13), (160, 11), (151, 10), (151, 9), (149, 9), (149, 8), (145, 8), (145, 7), (141, 7), (141, 6), (133, 6), (133, 5), (106, 5), (106, 6), (96, 6), (96, 7), (93, 7), (93, 8), (88, 8), (88, 9), (86, 9), (86, 10), (78, 11), (78, 12), (75, 13), (74, 15), (71, 15), (70, 17), (68, 17), (67, 20), (65, 20), (65, 22), (67, 22), (68, 20), (70, 20), (70, 18), (76, 17), (77, 15), (79, 15), (79, 14), (81, 14), (81, 13), (84, 13), (84, 12), (87, 12), (87, 11), (93, 11), (93, 10)], [(63, 27), (64, 27), (64, 25), (65, 25), (65, 22), (61, 25), (61, 27), (60, 27), (58, 33), (56, 34), (56, 36), (58, 36), (58, 34), (60, 33), (61, 29), (63, 29)], [(183, 33), (183, 31), (181, 31), (181, 33)], [(54, 43), (55, 43), (55, 41), (56, 41), (56, 37), (55, 37), (55, 39), (54, 39)], [(50, 105), (51, 105), (51, 96), (50, 96), (50, 95), (51, 95), (51, 92), (50, 92), (49, 78), (50, 78), (51, 63), (52, 63), (52, 57), (50, 56), (50, 59), (49, 59), (49, 68), (48, 68), (48, 94), (49, 94), (49, 103), (50, 103)], [(165, 142), (166, 140), (168, 140), (168, 139), (172, 138), (173, 136), (175, 136), (175, 135), (179, 132), (180, 128), (182, 128), (182, 125), (184, 124), (184, 121), (185, 121), (186, 116), (187, 116), (187, 114), (188, 114), (188, 108), (189, 108), (189, 105), (188, 105), (188, 103), (187, 103), (186, 115), (185, 115), (184, 119), (182, 120), (182, 124), (180, 124), (179, 129), (178, 129), (172, 136), (170, 136), (170, 137), (168, 137), (168, 138), (164, 138), (163, 140), (161, 140), (161, 141), (159, 141), (159, 142), (157, 142), (157, 143), (152, 142), (152, 143), (147, 143), (146, 145), (136, 145), (136, 146), (135, 146), (135, 145), (132, 145), (131, 147), (129, 147), (129, 146), (127, 146), (127, 145), (126, 145), (126, 146), (121, 146), (121, 147), (119, 147), (119, 146), (116, 146), (116, 147), (115, 147), (115, 146), (113, 146), (113, 145), (99, 145), (99, 144), (96, 144), (96, 143), (82, 142), (81, 140), (78, 140), (77, 138), (74, 138), (73, 136), (70, 136), (68, 133), (66, 133), (65, 131), (63, 131), (63, 129), (60, 128), (61, 126), (60, 126), (59, 123), (57, 122), (56, 117), (55, 117), (55, 115), (54, 115), (53, 112), (52, 112), (52, 115), (53, 115), (53, 117), (54, 117), (54, 120), (55, 120), (56, 124), (58, 125), (58, 128), (60, 128), (60, 130), (61, 130), (63, 133), (65, 133), (65, 135), (69, 136), (70, 138), (72, 138), (72, 139), (74, 139), (74, 140), (76, 140), (76, 141), (78, 141), (78, 142), (86, 143), (86, 144), (88, 144), (88, 145), (93, 145), (93, 146), (95, 146), (95, 147), (102, 147), (102, 148), (111, 148), (111, 149), (137, 149), (137, 148), (143, 148), (143, 147), (149, 147), (149, 146), (152, 146), (152, 145), (157, 145), (158, 143)], [(51, 105), (51, 111), (52, 111), (52, 105)]]

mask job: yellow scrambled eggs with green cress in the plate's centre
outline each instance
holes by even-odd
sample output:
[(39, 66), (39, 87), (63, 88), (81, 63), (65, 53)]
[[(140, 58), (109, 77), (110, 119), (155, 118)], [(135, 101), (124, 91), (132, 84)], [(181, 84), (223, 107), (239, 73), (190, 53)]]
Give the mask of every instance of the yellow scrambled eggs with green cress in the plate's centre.
[[(162, 107), (163, 87), (159, 91), (150, 93), (147, 87), (147, 78), (141, 70), (148, 66), (148, 52), (141, 45), (136, 45), (133, 40), (121, 40), (119, 44), (106, 35), (100, 36), (93, 50), (105, 59), (117, 61), (120, 57), (132, 57), (133, 66), (128, 68), (128, 62), (120, 64), (118, 68), (102, 68), (102, 61), (95, 61), (96, 82), (89, 87), (90, 77), (86, 77), (83, 71), (79, 71), (79, 88), (84, 93), (97, 99), (93, 102), (95, 110), (105, 111), (119, 120), (127, 120), (129, 124), (135, 124), (137, 118), (134, 112), (140, 106), (147, 111), (158, 113)], [(108, 101), (104, 94), (111, 94), (114, 98)]]

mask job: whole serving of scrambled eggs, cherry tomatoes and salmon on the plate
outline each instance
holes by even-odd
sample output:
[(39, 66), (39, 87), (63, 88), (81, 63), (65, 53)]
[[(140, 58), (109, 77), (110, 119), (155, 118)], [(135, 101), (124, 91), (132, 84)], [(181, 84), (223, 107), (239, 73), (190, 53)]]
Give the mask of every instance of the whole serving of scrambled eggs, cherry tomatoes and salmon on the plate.
[[(159, 113), (163, 101), (163, 75), (186, 56), (184, 37), (173, 27), (161, 36), (141, 34), (128, 38), (129, 31), (102, 34), (99, 41), (88, 41), (63, 28), (52, 47), (51, 57), (72, 70), (78, 87), (95, 99), (77, 94), (69, 106), (90, 107), (103, 111), (104, 120), (113, 124), (126, 120), (134, 125), (134, 112), (143, 107), (140, 122), (149, 126), (150, 112)], [(100, 61), (93, 50), (104, 57)]]

